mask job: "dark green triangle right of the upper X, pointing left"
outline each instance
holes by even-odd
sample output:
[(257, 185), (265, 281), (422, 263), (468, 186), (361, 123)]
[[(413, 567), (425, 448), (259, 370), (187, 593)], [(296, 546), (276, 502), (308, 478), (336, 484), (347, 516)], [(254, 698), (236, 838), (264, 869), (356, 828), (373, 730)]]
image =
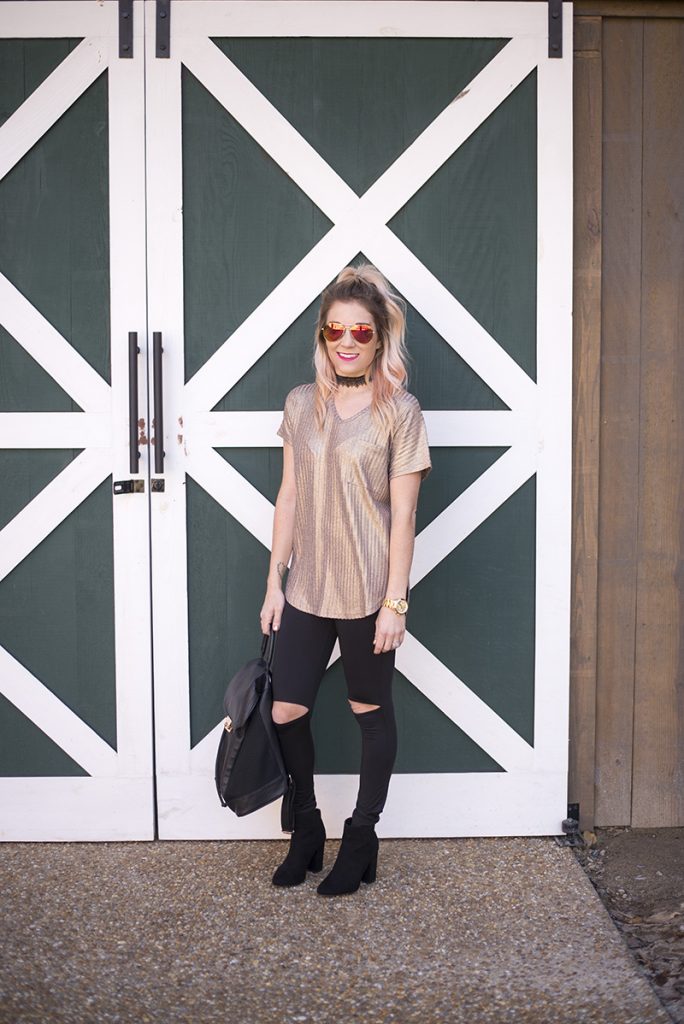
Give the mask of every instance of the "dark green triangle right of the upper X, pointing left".
[(536, 379), (536, 71), (389, 226)]

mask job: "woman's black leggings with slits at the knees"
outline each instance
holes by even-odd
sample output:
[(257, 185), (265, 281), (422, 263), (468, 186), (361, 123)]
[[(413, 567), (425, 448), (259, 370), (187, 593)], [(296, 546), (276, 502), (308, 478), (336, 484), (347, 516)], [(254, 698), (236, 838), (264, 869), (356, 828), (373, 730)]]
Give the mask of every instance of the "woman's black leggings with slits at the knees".
[(324, 618), (286, 601), (273, 657), (273, 700), (308, 709), (301, 718), (276, 725), (285, 765), (295, 782), (296, 811), (315, 807), (311, 711), (338, 638), (349, 699), (379, 705), (374, 711), (354, 714), (361, 730), (361, 764), (352, 824), (375, 825), (385, 806), (396, 757), (394, 651), (373, 652), (377, 614)]

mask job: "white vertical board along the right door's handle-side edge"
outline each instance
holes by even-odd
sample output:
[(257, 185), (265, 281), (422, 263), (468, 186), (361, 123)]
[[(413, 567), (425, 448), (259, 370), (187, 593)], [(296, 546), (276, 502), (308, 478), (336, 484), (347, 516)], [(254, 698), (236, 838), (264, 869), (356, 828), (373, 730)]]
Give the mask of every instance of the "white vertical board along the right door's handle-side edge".
[[(171, 56), (155, 57), (155, 5), (145, 5), (147, 76), (148, 330), (162, 332), (164, 370), (164, 493), (151, 496), (155, 739), (158, 795), (168, 773), (189, 771), (186, 484), (182, 424), (183, 273), (180, 62), (171, 12)], [(154, 409), (151, 416), (155, 416)], [(179, 443), (178, 436), (183, 440)], [(160, 837), (167, 811), (158, 799)]]

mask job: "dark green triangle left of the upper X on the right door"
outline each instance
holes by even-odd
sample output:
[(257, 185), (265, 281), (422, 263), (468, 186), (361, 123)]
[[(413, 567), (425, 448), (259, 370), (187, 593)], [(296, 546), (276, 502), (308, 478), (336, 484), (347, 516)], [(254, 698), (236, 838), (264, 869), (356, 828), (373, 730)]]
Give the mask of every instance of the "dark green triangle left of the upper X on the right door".
[(330, 221), (182, 69), (185, 379)]

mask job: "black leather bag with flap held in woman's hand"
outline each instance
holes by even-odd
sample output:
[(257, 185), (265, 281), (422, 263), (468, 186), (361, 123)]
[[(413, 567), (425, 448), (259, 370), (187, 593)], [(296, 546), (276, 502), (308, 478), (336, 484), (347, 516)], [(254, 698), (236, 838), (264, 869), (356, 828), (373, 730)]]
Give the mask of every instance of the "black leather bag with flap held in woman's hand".
[(283, 763), (271, 719), (271, 666), (277, 634), (270, 631), (261, 656), (243, 666), (223, 697), (225, 721), (216, 754), (216, 792), (222, 807), (242, 817), (283, 797), (281, 827), (294, 831), (295, 783)]

